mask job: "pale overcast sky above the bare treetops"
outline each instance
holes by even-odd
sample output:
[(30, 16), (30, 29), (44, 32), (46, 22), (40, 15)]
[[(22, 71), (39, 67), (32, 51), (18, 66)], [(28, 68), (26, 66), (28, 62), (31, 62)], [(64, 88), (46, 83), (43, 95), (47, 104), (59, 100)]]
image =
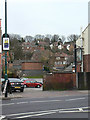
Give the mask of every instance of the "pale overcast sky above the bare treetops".
[[(80, 35), (88, 25), (89, 0), (7, 0), (7, 32), (35, 36), (36, 34)], [(0, 0), (2, 33), (5, 32), (5, 0)]]

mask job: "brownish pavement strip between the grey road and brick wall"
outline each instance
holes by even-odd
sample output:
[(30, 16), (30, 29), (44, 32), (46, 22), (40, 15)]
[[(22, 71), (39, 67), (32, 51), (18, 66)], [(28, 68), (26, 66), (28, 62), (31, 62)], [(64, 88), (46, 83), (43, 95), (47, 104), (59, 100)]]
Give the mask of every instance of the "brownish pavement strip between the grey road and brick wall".
[(36, 88), (25, 88), (23, 93), (13, 92), (12, 94), (8, 93), (8, 97), (5, 98), (5, 94), (0, 95), (1, 100), (9, 100), (15, 98), (45, 98), (45, 97), (60, 97), (60, 96), (70, 96), (70, 95), (79, 95), (79, 94), (88, 94), (88, 90), (70, 90), (70, 91), (42, 91), (42, 89)]

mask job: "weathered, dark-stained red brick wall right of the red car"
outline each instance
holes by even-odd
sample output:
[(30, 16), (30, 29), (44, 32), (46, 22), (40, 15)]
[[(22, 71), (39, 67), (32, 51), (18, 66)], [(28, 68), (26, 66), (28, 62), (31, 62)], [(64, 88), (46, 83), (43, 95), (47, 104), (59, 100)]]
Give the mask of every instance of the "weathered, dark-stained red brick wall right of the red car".
[(53, 73), (43, 79), (44, 90), (73, 89), (76, 87), (75, 73)]

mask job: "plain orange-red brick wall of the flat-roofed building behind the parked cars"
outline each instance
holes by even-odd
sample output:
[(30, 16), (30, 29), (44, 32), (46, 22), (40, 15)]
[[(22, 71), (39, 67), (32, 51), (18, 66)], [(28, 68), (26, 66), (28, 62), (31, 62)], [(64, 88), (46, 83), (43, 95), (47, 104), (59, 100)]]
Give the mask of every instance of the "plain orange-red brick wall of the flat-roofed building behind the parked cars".
[(42, 70), (43, 64), (38, 62), (22, 63), (22, 70)]

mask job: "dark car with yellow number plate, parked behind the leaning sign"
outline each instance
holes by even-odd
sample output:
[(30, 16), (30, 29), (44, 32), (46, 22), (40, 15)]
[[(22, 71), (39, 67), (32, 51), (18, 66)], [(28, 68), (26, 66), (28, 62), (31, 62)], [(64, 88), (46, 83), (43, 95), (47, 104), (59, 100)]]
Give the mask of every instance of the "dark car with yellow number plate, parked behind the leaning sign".
[[(20, 92), (24, 91), (24, 83), (18, 78), (8, 78), (12, 91), (20, 90)], [(5, 80), (2, 82), (1, 88), (4, 90)]]

